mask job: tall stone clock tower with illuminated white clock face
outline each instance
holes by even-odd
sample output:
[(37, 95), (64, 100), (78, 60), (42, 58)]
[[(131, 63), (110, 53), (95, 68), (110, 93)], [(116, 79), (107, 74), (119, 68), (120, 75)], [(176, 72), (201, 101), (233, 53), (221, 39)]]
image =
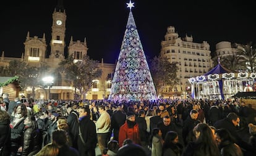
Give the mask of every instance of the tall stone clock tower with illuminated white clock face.
[(51, 27), (51, 54), (49, 58), (64, 58), (65, 31), (66, 31), (66, 12), (63, 1), (58, 0), (58, 4), (53, 12), (53, 25)]

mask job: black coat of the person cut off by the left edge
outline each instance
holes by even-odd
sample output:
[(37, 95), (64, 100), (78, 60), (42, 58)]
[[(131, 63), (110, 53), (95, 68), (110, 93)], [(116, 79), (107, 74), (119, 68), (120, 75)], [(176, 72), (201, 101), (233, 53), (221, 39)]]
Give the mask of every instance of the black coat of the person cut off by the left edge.
[(11, 128), (10, 121), (0, 122), (0, 156), (9, 156), (11, 152)]

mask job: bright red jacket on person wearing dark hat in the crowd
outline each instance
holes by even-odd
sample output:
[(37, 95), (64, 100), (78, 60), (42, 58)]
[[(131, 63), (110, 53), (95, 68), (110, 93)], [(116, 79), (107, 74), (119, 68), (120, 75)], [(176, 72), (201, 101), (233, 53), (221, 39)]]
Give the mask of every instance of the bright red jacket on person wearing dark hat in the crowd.
[(135, 144), (140, 144), (139, 125), (136, 123), (133, 128), (129, 128), (126, 123), (119, 129), (119, 147), (122, 147), (122, 143), (125, 139), (132, 139)]

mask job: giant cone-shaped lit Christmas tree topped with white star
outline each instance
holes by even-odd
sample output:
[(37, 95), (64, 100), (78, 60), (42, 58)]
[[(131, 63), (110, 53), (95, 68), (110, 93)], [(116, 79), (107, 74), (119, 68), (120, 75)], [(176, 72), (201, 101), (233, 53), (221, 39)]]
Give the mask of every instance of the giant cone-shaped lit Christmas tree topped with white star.
[(111, 101), (152, 101), (157, 99), (147, 59), (132, 15), (133, 4), (132, 2), (127, 3), (130, 13), (111, 83), (111, 94), (109, 95)]

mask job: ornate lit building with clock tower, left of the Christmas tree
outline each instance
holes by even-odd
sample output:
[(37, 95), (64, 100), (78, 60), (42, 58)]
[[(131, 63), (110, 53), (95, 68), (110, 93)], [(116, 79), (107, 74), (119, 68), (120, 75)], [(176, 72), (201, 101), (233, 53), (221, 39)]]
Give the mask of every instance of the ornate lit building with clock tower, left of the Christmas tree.
[[(75, 88), (66, 83), (63, 73), (56, 71), (59, 67), (59, 63), (65, 59), (66, 54), (66, 17), (64, 7), (58, 4), (52, 16), (53, 23), (51, 25), (50, 45), (46, 44), (45, 34), (43, 34), (42, 38), (38, 36), (31, 37), (28, 31), (25, 43), (23, 43), (25, 49), (21, 58), (4, 57), (4, 52), (2, 52), (0, 59), (1, 66), (9, 65), (11, 60), (16, 59), (22, 60), (33, 67), (41, 67), (42, 65), (49, 67), (48, 72), (44, 73), (44, 75), (53, 76), (53, 84), (51, 88), (41, 88), (38, 86), (35, 89), (36, 99), (74, 99), (75, 97)], [(48, 46), (51, 47), (49, 57), (47, 57), (46, 54)], [(87, 51), (86, 39), (84, 39), (84, 41), (73, 41), (71, 36), (69, 45), (67, 46), (67, 55), (72, 55), (75, 60), (82, 60), (83, 55), (87, 55)], [(93, 88), (87, 92), (87, 99), (104, 99), (108, 97), (111, 89), (109, 75), (113, 75), (115, 66), (115, 64), (104, 64), (103, 59), (101, 60), (99, 67), (102, 69), (103, 73), (101, 78), (94, 81)], [(23, 89), (20, 94), (31, 97), (32, 89), (27, 87)]]

